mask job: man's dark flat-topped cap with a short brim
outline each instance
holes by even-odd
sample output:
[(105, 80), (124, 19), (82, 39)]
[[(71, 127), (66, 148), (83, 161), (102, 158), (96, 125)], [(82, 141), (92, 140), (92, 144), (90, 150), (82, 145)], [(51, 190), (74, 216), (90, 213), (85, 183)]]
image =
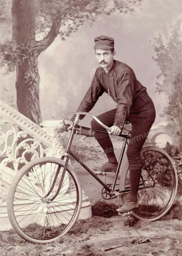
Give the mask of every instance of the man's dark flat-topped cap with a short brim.
[(114, 48), (114, 38), (108, 36), (97, 36), (94, 39), (94, 49), (112, 49)]

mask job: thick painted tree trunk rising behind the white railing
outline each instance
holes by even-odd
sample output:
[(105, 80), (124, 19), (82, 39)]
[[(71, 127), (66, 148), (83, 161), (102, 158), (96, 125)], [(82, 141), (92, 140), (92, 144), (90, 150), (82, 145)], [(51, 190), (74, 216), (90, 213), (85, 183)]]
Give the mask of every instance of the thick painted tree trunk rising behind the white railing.
[(12, 39), (17, 45), (17, 108), (36, 124), (41, 122), (38, 56), (35, 46), (35, 0), (12, 0)]

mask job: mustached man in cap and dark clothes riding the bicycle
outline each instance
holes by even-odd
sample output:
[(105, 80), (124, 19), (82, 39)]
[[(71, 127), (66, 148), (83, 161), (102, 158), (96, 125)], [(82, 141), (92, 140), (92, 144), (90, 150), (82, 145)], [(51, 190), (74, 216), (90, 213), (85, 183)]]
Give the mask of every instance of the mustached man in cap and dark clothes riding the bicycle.
[[(117, 103), (115, 109), (97, 116), (101, 122), (111, 128), (111, 131), (108, 134), (99, 132), (94, 134), (108, 158), (107, 163), (93, 168), (95, 173), (116, 171), (118, 163), (109, 135), (119, 135), (122, 132), (126, 118), (131, 122), (132, 132), (127, 148), (130, 192), (127, 202), (117, 209), (118, 212), (127, 212), (139, 206), (137, 192), (142, 169), (140, 153), (155, 121), (155, 107), (147, 94), (147, 88), (137, 80), (133, 70), (127, 64), (114, 60), (114, 39), (108, 36), (98, 36), (94, 39), (94, 42), (95, 56), (100, 67), (97, 68), (92, 84), (76, 111), (89, 112), (92, 110), (98, 98), (104, 92), (108, 93), (109, 98), (111, 97)], [(66, 121), (68, 130), (72, 128), (74, 118), (75, 116)], [(84, 115), (80, 115), (79, 118), (81, 120)], [(91, 126), (92, 129), (105, 130), (95, 120), (92, 120)]]

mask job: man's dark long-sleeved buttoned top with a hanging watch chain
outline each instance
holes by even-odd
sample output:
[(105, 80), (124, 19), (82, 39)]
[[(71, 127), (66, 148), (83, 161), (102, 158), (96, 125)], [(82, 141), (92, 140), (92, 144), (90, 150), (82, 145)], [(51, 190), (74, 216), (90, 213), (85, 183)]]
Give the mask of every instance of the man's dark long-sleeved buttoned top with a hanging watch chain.
[[(96, 70), (92, 84), (76, 111), (89, 112), (92, 110), (98, 98), (104, 92), (108, 93), (108, 89), (110, 96), (117, 103), (114, 125), (122, 130), (133, 101), (147, 88), (141, 85), (127, 64), (118, 60), (113, 60), (112, 68), (108, 73), (102, 67)], [(73, 121), (74, 118), (75, 116), (71, 120)], [(79, 118), (84, 118), (84, 115)]]

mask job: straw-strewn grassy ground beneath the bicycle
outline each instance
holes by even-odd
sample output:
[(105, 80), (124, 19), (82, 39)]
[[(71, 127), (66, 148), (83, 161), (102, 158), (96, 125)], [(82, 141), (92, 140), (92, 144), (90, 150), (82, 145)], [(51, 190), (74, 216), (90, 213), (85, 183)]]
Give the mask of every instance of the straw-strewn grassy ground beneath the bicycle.
[(0, 256), (182, 255), (182, 206), (178, 203), (158, 222), (131, 220), (135, 232), (130, 236), (117, 235), (122, 225), (125, 232), (127, 222), (117, 216), (114, 204), (97, 202), (92, 212), (92, 218), (76, 222), (66, 236), (46, 245), (25, 242), (13, 230), (0, 232)]

